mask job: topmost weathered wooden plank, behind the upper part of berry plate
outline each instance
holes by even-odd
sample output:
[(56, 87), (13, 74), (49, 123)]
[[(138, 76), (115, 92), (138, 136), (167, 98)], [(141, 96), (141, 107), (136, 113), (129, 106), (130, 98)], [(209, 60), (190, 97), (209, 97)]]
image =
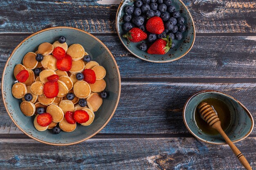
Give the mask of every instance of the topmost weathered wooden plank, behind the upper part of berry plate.
[[(116, 33), (118, 2), (120, 0), (2, 0), (0, 32), (33, 33), (49, 26), (72, 26), (91, 33)], [(193, 16), (197, 33), (256, 32), (254, 0), (183, 2)]]

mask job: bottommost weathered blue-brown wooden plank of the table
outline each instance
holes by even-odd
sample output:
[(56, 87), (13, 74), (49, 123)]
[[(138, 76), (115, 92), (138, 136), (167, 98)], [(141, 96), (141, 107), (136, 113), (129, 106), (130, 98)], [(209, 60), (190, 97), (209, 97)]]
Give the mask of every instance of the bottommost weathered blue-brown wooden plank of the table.
[[(236, 143), (256, 170), (256, 137)], [(245, 170), (227, 145), (194, 138), (89, 139), (56, 147), (32, 139), (0, 139), (1, 170)]]

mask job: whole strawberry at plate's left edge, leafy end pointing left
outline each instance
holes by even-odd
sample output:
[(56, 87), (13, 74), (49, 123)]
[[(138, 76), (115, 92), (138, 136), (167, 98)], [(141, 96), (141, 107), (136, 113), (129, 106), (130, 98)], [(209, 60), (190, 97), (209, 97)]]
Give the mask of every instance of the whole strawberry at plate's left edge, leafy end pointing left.
[(139, 28), (132, 28), (127, 34), (123, 35), (123, 37), (131, 42), (140, 42), (146, 40), (148, 35)]

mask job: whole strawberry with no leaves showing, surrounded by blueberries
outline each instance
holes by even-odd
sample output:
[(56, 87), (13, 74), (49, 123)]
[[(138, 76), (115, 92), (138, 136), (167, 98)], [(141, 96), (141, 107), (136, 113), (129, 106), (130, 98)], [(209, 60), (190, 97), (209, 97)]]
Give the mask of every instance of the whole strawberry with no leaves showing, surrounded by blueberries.
[(150, 33), (154, 34), (161, 34), (164, 32), (164, 22), (162, 18), (160, 17), (152, 17), (148, 19), (148, 22), (146, 23), (146, 29)]

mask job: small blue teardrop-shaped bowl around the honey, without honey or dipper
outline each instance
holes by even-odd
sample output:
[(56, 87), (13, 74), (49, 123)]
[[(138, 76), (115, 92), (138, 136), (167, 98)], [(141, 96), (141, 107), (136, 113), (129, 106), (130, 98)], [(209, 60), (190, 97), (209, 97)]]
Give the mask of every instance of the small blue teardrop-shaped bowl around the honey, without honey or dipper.
[(195, 93), (186, 101), (183, 109), (183, 120), (186, 128), (201, 141), (209, 144), (226, 144), (220, 134), (209, 135), (202, 132), (195, 123), (195, 109), (204, 99), (217, 98), (227, 104), (231, 112), (231, 124), (225, 133), (233, 142), (245, 139), (253, 130), (254, 120), (251, 113), (237, 99), (218, 91), (200, 91)]

